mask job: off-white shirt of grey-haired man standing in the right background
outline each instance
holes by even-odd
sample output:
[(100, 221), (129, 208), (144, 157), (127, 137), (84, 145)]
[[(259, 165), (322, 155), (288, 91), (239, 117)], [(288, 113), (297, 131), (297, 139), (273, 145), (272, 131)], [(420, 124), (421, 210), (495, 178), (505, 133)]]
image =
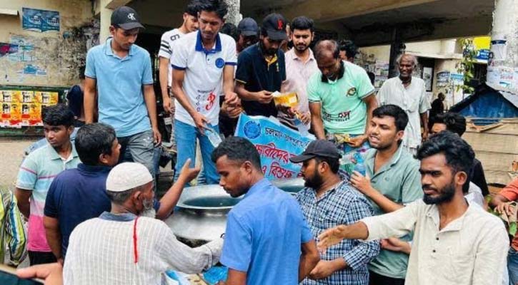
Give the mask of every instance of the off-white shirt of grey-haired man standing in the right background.
[(401, 107), (408, 115), (408, 125), (404, 129), (402, 144), (407, 148), (417, 148), (421, 145), (421, 114), (432, 108), (426, 94), (424, 81), (412, 77), (412, 83), (407, 88), (399, 77), (385, 81), (378, 94), (379, 105), (394, 104)]

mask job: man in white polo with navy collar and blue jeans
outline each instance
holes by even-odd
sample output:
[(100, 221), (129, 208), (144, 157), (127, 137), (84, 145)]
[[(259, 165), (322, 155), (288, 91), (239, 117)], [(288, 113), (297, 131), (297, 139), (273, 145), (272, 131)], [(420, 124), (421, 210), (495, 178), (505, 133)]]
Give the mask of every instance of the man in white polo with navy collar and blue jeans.
[(194, 163), (198, 138), (206, 183), (217, 184), (219, 175), (211, 153), (217, 144), (214, 137), (219, 135), (219, 96), (224, 95), (227, 105), (239, 103), (234, 93), (236, 42), (219, 33), (228, 11), (223, 0), (201, 0), (198, 7), (199, 31), (181, 37), (171, 59), (176, 173), (187, 159)]

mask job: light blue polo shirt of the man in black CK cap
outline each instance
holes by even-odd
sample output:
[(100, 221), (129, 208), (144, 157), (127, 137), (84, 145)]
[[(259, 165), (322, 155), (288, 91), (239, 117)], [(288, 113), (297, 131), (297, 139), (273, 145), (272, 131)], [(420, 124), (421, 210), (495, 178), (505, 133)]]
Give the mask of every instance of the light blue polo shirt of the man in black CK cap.
[(111, 38), (86, 55), (84, 75), (96, 79), (99, 122), (114, 127), (117, 137), (151, 130), (143, 85), (153, 84), (151, 58), (144, 48), (131, 45), (119, 58), (111, 50)]

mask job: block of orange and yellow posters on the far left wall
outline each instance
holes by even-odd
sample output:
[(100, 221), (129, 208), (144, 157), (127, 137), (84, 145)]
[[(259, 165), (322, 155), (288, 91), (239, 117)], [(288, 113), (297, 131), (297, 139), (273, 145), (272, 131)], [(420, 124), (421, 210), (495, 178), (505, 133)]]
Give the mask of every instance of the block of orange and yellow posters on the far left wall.
[(41, 126), (41, 107), (58, 103), (59, 93), (0, 90), (0, 127)]

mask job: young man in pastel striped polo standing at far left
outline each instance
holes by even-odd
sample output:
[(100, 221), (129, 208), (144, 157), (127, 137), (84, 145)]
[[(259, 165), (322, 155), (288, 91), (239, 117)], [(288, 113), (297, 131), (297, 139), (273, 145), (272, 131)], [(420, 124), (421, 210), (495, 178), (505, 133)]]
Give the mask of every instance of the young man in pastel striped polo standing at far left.
[[(27, 250), (31, 265), (56, 262), (46, 241), (43, 210), (49, 187), (61, 171), (79, 164), (70, 135), (74, 132), (74, 113), (64, 104), (48, 107), (43, 112), (46, 146), (31, 152), (21, 164), (14, 195), (22, 214), (29, 219)], [(30, 202), (29, 202), (30, 199)]]

